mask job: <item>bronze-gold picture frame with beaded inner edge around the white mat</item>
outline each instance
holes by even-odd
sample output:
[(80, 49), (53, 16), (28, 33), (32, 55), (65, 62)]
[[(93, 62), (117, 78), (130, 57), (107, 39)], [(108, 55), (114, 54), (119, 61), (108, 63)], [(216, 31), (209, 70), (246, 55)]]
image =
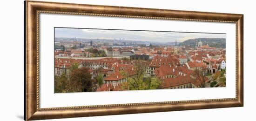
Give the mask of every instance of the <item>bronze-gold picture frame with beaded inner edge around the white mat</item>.
[[(243, 106), (243, 14), (208, 13), (151, 8), (81, 5), (25, 1), (26, 77), (24, 120), (44, 120), (98, 115), (135, 114), (163, 111)], [(236, 98), (164, 101), (79, 107), (40, 108), (39, 15), (40, 13), (110, 16), (141, 19), (224, 22), (236, 24)]]

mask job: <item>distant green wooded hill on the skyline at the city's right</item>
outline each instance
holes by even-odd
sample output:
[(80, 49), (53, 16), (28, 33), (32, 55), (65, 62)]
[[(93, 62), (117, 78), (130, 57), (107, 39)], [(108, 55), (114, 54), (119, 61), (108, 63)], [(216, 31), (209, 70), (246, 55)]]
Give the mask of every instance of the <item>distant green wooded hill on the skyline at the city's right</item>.
[(226, 48), (226, 39), (225, 38), (196, 38), (185, 40), (182, 43), (179, 43), (179, 46), (190, 45), (190, 47), (195, 47), (195, 41), (202, 41), (203, 45), (208, 44), (210, 47), (217, 48)]

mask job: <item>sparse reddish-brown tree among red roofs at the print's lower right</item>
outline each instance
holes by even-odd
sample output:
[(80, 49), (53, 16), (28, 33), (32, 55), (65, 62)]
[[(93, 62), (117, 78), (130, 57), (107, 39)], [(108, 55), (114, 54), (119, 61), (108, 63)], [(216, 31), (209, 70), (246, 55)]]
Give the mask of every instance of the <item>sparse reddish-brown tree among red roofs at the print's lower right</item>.
[(196, 69), (192, 76), (195, 77), (195, 81), (199, 81), (200, 82), (200, 87), (204, 87), (205, 81), (208, 80), (208, 71), (207, 68), (203, 67), (202, 69), (198, 70)]

